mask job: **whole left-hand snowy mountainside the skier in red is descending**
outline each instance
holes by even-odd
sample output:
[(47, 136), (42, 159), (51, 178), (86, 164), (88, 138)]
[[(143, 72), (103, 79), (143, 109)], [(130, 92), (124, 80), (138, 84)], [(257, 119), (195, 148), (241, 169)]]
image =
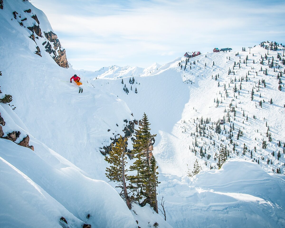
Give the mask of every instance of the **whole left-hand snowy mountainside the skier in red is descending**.
[[(42, 227), (67, 227), (60, 222), (61, 216), (70, 228), (84, 223), (134, 228), (138, 218), (142, 224), (150, 221), (148, 217), (162, 220), (152, 211), (137, 212), (139, 217), (134, 218), (115, 189), (104, 181), (107, 162), (99, 150), (109, 145), (115, 134), (123, 134), (124, 120), (133, 119), (125, 102), (94, 89), (83, 78), (84, 92), (79, 94), (78, 86), (69, 82), (76, 72), (58, 66), (48, 52), (41, 52), (42, 57), (34, 54), (36, 43), (18, 21), (11, 20), (13, 9), (31, 9), (40, 22), (45, 18), (26, 1), (5, 2), (0, 9), (0, 49), (5, 50), (0, 57), (1, 98), (11, 94), (11, 106), (16, 107), (13, 111), (9, 105), (0, 105), (6, 122), (3, 131), (5, 135), (20, 131), (16, 143), (29, 135), (29, 144), (34, 146), (32, 151), (0, 141), (0, 201), (5, 202), (0, 226), (38, 227), (32, 220), (39, 218), (45, 223)], [(160, 224), (171, 227), (165, 221)]]

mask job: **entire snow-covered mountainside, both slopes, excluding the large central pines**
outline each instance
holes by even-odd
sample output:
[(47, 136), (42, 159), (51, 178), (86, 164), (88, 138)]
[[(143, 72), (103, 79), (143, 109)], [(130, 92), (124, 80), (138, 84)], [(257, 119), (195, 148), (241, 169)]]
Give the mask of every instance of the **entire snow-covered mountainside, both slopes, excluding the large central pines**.
[[(60, 67), (63, 49), (28, 1), (3, 1), (0, 21), (0, 98), (13, 96), (0, 105), (0, 126), (3, 137), (21, 133), (15, 143), (0, 139), (0, 227), (285, 226), (281, 46), (202, 54), (186, 67), (186, 58), (177, 58), (146, 69), (75, 71)], [(33, 39), (39, 28), (42, 36)], [(83, 93), (69, 82), (75, 73)], [(157, 134), (157, 197), (164, 197), (166, 221), (149, 206), (129, 210), (105, 176), (105, 148), (144, 112)], [(34, 151), (16, 144), (27, 135)], [(218, 169), (225, 147), (227, 161)], [(196, 159), (203, 171), (189, 177)]]

